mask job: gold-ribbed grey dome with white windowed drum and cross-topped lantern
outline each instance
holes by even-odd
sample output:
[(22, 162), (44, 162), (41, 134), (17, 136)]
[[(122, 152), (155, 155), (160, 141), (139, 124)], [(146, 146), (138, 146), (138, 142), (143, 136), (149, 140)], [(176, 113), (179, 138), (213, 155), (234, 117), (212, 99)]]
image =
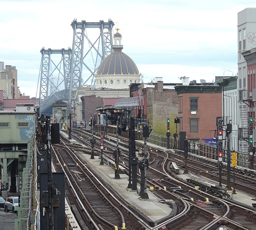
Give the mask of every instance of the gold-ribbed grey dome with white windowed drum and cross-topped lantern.
[(95, 74), (96, 89), (128, 89), (131, 83), (140, 83), (140, 72), (134, 61), (122, 52), (122, 35), (113, 36), (113, 52), (99, 65)]

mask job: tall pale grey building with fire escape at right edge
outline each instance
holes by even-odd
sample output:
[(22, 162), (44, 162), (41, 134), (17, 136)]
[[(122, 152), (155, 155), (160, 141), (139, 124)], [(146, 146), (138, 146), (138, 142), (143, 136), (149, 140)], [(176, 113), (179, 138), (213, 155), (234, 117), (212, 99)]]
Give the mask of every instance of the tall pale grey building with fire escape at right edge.
[[(238, 138), (239, 150), (248, 151), (248, 116), (255, 115), (253, 112), (252, 89), (253, 78), (255, 79), (255, 69), (250, 65), (248, 69), (247, 60), (249, 54), (247, 51), (256, 48), (256, 8), (246, 8), (238, 13)], [(244, 55), (243, 55), (244, 54)], [(254, 77), (253, 77), (254, 76)]]

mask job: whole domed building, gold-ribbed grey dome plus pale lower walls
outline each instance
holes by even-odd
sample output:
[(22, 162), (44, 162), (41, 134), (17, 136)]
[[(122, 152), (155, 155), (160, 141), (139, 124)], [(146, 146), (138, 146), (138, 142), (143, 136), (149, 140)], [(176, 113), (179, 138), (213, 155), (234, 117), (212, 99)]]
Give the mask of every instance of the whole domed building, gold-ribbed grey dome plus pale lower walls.
[[(76, 107), (77, 121), (89, 121), (99, 107), (105, 112), (114, 110), (119, 98), (129, 98), (132, 83), (140, 83), (140, 72), (134, 61), (122, 52), (122, 35), (113, 35), (113, 52), (99, 65), (95, 77), (95, 86), (78, 89), (76, 94), (79, 106)], [(98, 123), (97, 123), (98, 124)]]

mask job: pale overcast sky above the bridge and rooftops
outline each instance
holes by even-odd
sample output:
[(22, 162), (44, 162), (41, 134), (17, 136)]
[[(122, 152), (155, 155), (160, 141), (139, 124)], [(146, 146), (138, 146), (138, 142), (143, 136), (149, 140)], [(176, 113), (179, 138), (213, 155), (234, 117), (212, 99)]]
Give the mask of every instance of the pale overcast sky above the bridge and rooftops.
[(237, 74), (237, 14), (249, 7), (255, 0), (0, 0), (0, 61), (16, 66), (21, 93), (35, 97), (42, 47), (72, 48), (74, 18), (111, 18), (144, 83), (212, 82)]

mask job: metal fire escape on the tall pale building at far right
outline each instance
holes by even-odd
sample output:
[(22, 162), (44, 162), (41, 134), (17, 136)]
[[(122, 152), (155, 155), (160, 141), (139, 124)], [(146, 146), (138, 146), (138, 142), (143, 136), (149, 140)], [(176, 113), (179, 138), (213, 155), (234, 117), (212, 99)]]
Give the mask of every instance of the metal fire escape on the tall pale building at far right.
[(248, 90), (239, 91), (241, 127), (239, 127), (239, 149), (248, 152), (248, 112), (252, 112), (253, 94)]

